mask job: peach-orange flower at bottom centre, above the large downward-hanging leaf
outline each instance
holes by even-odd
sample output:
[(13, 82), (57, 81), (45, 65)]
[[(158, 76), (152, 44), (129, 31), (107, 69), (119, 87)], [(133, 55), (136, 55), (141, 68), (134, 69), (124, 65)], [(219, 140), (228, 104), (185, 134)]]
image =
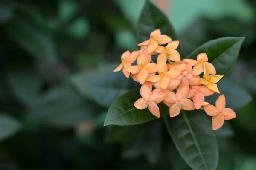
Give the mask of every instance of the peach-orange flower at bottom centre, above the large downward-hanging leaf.
[(168, 104), (172, 104), (170, 107), (170, 117), (175, 117), (180, 114), (180, 110), (194, 110), (195, 106), (191, 100), (186, 98), (189, 94), (189, 86), (180, 87), (176, 94), (174, 92), (168, 92), (164, 99)]

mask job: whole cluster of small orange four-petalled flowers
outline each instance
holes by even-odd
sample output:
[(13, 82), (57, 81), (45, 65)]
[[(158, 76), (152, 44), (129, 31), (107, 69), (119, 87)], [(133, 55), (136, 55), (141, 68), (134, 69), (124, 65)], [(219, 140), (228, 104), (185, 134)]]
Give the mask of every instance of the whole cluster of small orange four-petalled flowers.
[[(167, 46), (160, 46), (163, 44)], [(205, 53), (198, 54), (197, 60), (181, 61), (176, 50), (178, 45), (179, 41), (172, 41), (167, 35), (161, 35), (160, 29), (154, 30), (149, 40), (138, 44), (140, 50), (122, 54), (122, 63), (114, 72), (122, 69), (127, 78), (131, 74), (134, 81), (142, 85), (142, 98), (134, 103), (137, 109), (148, 108), (158, 118), (160, 110), (157, 104), (162, 101), (170, 107), (170, 117), (177, 116), (181, 109), (204, 109), (207, 115), (213, 117), (212, 128), (216, 130), (223, 125), (224, 120), (236, 117), (232, 109), (225, 108), (224, 95), (218, 98), (216, 107), (204, 102), (205, 96), (220, 93), (216, 83), (223, 75), (215, 75), (215, 67), (208, 62)], [(151, 55), (154, 54), (159, 54), (157, 63), (151, 60)], [(136, 60), (137, 65), (132, 66)], [(199, 76), (201, 73), (203, 78)]]

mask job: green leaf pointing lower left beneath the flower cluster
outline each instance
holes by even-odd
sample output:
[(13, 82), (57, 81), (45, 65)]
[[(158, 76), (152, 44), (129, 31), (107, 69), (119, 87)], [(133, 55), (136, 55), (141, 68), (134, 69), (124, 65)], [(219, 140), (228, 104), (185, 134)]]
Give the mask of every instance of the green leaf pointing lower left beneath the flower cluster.
[[(152, 115), (148, 109), (139, 110), (134, 107), (134, 102), (139, 98), (141, 98), (140, 89), (131, 90), (117, 98), (108, 109), (104, 126), (143, 124), (156, 119), (157, 117)], [(161, 115), (169, 113), (169, 107), (164, 104), (160, 104), (160, 106)]]

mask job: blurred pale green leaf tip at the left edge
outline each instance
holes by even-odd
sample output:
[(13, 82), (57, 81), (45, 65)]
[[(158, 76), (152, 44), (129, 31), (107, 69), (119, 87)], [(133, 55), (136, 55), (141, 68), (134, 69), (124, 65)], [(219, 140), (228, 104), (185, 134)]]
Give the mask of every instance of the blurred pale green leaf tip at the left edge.
[(0, 140), (14, 135), (21, 127), (19, 121), (8, 115), (0, 115)]

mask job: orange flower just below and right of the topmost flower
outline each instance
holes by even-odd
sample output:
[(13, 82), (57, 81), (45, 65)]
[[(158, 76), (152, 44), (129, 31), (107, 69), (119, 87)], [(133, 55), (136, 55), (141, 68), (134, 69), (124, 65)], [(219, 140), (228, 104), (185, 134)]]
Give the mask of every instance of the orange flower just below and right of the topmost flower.
[(179, 41), (172, 41), (166, 47), (164, 46), (157, 46), (155, 52), (159, 53), (157, 58), (157, 63), (160, 60), (167, 61), (170, 59), (172, 61), (180, 61), (180, 54), (176, 50), (179, 46)]

